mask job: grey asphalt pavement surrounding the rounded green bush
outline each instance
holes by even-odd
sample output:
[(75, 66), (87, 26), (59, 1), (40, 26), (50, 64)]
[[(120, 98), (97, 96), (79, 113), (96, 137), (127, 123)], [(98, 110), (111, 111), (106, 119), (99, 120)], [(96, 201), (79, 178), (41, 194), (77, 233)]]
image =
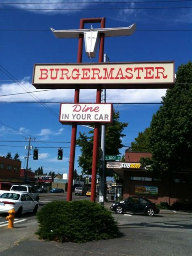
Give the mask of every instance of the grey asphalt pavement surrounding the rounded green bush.
[[(86, 196), (73, 196), (73, 200), (81, 200)], [(66, 194), (40, 198), (40, 207), (52, 200), (66, 200)], [(110, 204), (106, 207), (110, 207)], [(112, 213), (122, 232), (122, 237), (106, 241), (92, 241), (83, 244), (56, 243), (38, 240), (33, 235), (37, 224), (33, 214), (23, 214), (23, 222), (15, 224), (14, 230), (0, 228), (0, 256), (190, 256), (192, 255), (192, 213), (160, 212), (154, 217)], [(0, 215), (2, 222), (2, 215)], [(10, 241), (6, 236), (10, 233)], [(14, 234), (23, 234), (17, 243)], [(28, 234), (28, 235), (27, 235)], [(30, 237), (31, 234), (31, 237)], [(28, 237), (27, 237), (28, 236)], [(26, 237), (26, 238), (25, 238)], [(12, 241), (13, 240), (13, 241)], [(12, 241), (12, 242), (11, 242)]]

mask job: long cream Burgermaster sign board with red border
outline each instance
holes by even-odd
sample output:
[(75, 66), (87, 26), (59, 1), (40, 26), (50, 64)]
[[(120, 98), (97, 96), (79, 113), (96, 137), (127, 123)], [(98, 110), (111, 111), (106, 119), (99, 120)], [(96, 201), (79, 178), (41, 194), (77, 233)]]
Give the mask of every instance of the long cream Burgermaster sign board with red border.
[(38, 89), (169, 88), (175, 83), (174, 62), (35, 64), (32, 84)]

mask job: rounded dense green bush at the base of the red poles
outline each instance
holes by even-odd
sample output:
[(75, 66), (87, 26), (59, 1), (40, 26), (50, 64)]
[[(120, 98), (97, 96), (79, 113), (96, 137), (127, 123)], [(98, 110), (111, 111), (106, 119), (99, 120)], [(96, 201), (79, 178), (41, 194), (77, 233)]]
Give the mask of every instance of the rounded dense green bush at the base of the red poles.
[(37, 220), (40, 239), (83, 243), (119, 235), (111, 212), (87, 200), (48, 203), (38, 212)]

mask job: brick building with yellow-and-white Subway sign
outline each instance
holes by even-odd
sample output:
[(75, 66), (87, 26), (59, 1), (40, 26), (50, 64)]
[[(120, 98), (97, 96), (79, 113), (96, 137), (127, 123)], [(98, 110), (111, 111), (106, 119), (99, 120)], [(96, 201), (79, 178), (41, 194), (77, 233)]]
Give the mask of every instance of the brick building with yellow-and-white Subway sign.
[(123, 178), (123, 196), (144, 196), (154, 203), (175, 201), (192, 203), (192, 168), (181, 169), (170, 177), (154, 177), (141, 166), (141, 157), (151, 157), (147, 152), (126, 150), (125, 162), (107, 162), (107, 168), (113, 169)]

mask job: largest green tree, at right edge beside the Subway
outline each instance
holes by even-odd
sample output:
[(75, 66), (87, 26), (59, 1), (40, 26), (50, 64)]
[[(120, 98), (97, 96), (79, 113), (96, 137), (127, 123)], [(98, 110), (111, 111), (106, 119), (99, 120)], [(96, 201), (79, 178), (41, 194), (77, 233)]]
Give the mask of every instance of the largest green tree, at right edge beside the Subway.
[(141, 164), (154, 173), (191, 168), (192, 156), (192, 62), (179, 66), (175, 86), (162, 97), (163, 105), (152, 117), (149, 143), (151, 160)]

